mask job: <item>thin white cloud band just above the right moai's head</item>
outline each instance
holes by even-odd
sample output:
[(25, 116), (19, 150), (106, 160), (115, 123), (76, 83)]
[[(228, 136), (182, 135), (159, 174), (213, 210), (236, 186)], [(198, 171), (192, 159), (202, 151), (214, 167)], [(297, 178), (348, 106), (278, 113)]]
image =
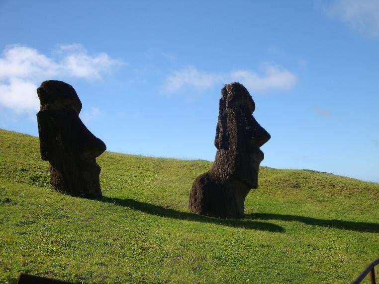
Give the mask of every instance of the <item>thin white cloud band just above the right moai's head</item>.
[(238, 81), (253, 91), (265, 92), (288, 90), (296, 84), (297, 77), (284, 68), (270, 64), (264, 66), (262, 73), (251, 70), (237, 70), (228, 73), (204, 72), (189, 66), (170, 74), (166, 78), (164, 89), (168, 93), (180, 91), (186, 87), (205, 90), (215, 84), (232, 81)]

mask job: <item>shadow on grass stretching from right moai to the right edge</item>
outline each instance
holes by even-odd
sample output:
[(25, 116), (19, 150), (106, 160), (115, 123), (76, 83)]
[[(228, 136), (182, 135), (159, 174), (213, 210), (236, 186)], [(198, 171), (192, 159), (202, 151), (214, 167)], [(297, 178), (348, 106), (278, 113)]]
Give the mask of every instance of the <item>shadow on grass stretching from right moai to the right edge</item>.
[(260, 219), (260, 220), (281, 220), (281, 221), (297, 221), (307, 225), (333, 227), (343, 230), (358, 231), (358, 232), (379, 232), (379, 224), (366, 223), (366, 222), (353, 222), (343, 220), (327, 220), (317, 219), (312, 217), (298, 216), (298, 215), (282, 215), (273, 213), (252, 213), (246, 214), (247, 218)]

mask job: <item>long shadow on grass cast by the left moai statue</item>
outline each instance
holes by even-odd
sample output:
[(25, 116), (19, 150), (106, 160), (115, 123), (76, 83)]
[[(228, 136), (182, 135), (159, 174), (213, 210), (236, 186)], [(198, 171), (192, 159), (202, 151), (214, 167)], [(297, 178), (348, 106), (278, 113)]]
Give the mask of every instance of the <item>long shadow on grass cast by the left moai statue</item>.
[(166, 218), (178, 219), (178, 220), (190, 220), (204, 223), (213, 223), (218, 225), (224, 225), (229, 227), (236, 228), (245, 228), (245, 229), (254, 229), (261, 231), (270, 231), (270, 232), (284, 232), (283, 227), (261, 221), (252, 221), (252, 220), (226, 220), (226, 219), (217, 219), (210, 218), (205, 216), (200, 216), (194, 213), (187, 213), (177, 211), (175, 209), (164, 208), (162, 206), (149, 204), (146, 202), (136, 201), (133, 199), (120, 199), (115, 197), (102, 197), (96, 199), (101, 202), (111, 203), (118, 206), (127, 207), (139, 212), (148, 213), (152, 215), (157, 215)]

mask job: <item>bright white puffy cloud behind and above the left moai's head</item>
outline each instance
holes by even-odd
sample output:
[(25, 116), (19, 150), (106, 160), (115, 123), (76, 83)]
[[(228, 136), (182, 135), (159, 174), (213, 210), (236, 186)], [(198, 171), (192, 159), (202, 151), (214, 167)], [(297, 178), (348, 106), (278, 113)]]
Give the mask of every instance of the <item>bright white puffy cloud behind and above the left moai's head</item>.
[(0, 57), (0, 105), (16, 113), (35, 112), (36, 88), (42, 81), (100, 79), (121, 64), (105, 53), (91, 55), (80, 44), (61, 45), (52, 57), (27, 46), (8, 46)]

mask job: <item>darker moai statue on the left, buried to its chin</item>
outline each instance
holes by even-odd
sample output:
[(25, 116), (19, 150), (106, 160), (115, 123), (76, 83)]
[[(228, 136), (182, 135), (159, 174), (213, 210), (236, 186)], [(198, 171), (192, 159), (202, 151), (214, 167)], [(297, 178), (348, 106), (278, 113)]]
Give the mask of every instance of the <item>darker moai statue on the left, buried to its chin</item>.
[(44, 81), (37, 89), (37, 113), (42, 160), (50, 162), (50, 184), (78, 196), (101, 196), (96, 157), (106, 149), (79, 118), (82, 109), (75, 89), (62, 81)]

